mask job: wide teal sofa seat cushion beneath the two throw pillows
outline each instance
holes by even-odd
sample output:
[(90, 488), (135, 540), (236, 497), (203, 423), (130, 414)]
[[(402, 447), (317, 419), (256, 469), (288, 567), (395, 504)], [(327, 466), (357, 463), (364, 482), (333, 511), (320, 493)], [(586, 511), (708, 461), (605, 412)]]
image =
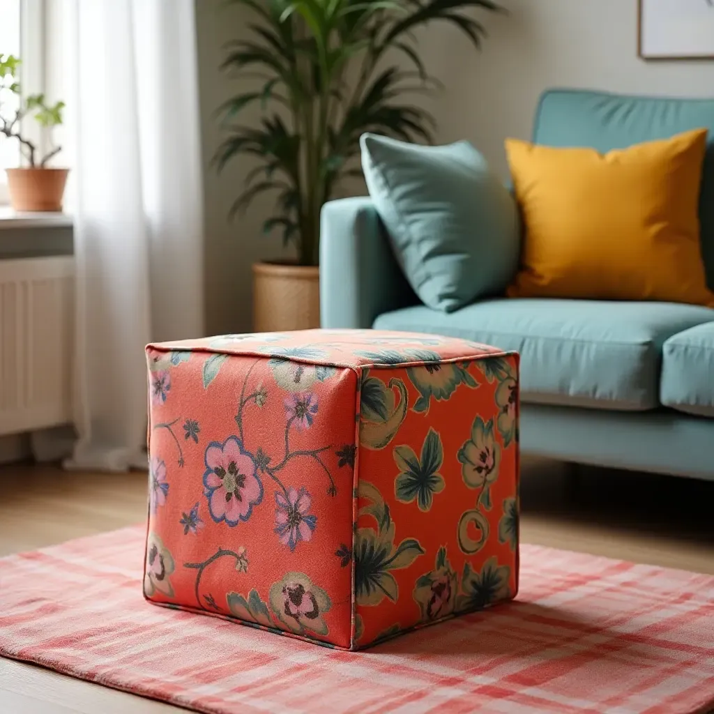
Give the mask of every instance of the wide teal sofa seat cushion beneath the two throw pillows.
[(714, 310), (677, 303), (523, 298), (448, 314), (403, 308), (383, 313), (374, 327), (517, 350), (524, 402), (645, 410), (659, 406), (665, 340), (710, 321)]

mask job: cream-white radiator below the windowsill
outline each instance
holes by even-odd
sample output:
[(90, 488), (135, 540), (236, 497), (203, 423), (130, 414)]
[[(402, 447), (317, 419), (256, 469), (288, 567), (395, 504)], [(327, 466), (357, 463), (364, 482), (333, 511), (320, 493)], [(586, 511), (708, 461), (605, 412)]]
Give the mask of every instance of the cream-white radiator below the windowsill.
[(0, 435), (70, 423), (74, 258), (0, 260)]

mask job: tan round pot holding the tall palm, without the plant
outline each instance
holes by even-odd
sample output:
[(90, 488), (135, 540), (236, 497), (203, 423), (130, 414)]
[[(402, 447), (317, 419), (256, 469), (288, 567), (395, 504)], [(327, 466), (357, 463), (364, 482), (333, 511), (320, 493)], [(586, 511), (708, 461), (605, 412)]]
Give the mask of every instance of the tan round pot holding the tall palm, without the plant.
[(320, 268), (253, 263), (253, 329), (306, 330), (320, 326)]

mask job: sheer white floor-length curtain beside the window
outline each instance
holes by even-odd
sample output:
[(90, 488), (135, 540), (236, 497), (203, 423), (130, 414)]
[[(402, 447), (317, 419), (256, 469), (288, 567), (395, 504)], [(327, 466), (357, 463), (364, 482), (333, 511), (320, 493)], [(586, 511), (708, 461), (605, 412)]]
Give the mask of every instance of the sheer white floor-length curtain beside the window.
[(66, 0), (77, 265), (67, 468), (146, 468), (149, 341), (203, 334), (193, 0)]

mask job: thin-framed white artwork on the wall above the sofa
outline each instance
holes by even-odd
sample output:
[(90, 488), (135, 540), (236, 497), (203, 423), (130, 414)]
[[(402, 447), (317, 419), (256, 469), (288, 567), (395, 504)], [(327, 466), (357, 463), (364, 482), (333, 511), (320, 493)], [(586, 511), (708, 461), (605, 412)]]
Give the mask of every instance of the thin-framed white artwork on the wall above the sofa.
[(714, 59), (714, 0), (638, 0), (642, 59)]

